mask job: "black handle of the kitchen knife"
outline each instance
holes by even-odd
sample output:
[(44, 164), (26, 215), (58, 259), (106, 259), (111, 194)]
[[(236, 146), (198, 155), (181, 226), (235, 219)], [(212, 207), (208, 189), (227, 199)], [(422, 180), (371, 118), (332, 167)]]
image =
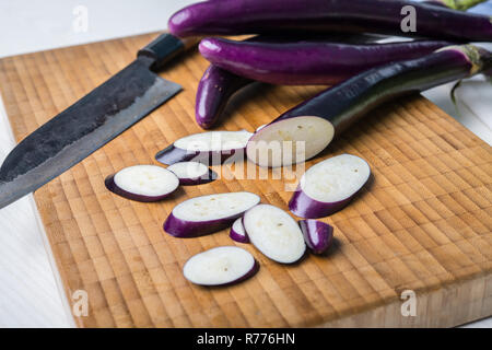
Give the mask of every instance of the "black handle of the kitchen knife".
[(172, 34), (164, 33), (140, 49), (137, 56), (150, 57), (153, 59), (152, 69), (159, 70), (197, 42), (198, 39), (179, 39)]

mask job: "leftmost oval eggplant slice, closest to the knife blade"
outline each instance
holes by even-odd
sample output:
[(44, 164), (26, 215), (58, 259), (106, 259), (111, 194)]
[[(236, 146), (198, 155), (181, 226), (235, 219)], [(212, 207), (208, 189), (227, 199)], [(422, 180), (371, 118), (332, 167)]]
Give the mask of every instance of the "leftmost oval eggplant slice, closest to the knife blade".
[(157, 201), (171, 195), (178, 186), (177, 176), (160, 166), (134, 165), (106, 177), (107, 189), (137, 201)]

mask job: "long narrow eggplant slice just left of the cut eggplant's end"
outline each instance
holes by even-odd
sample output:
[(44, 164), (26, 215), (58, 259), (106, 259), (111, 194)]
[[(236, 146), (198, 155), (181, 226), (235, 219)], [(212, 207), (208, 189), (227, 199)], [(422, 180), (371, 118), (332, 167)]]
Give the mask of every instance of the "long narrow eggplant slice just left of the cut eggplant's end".
[(189, 161), (221, 164), (237, 151), (243, 151), (251, 136), (246, 130), (194, 133), (157, 152), (155, 159), (167, 165)]

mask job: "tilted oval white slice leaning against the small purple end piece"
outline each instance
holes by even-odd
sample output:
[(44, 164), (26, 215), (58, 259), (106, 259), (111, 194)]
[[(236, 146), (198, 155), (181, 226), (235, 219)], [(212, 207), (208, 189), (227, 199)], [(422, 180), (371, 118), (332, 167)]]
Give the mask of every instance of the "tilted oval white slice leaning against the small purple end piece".
[(244, 214), (243, 224), (253, 245), (274, 261), (295, 262), (306, 250), (297, 222), (280, 208), (256, 206)]

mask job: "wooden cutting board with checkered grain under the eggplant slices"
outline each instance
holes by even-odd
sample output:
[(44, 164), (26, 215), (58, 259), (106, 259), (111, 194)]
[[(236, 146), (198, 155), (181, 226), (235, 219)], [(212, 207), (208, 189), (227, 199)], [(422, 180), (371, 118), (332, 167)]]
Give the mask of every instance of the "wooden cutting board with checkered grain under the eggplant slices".
[[(16, 140), (128, 65), (154, 36), (1, 59)], [(492, 150), (419, 95), (372, 112), (306, 164), (348, 152), (374, 173), (348, 208), (324, 219), (337, 238), (327, 256), (284, 266), (236, 244), (259, 260), (254, 278), (227, 288), (187, 282), (181, 268), (190, 256), (235, 243), (225, 230), (190, 240), (165, 234), (175, 205), (249, 190), (286, 209), (291, 197), (280, 179), (222, 178), (159, 203), (106, 190), (108, 174), (156, 164), (155, 152), (202, 131), (194, 106), (207, 66), (194, 51), (162, 72), (184, 91), (35, 194), (69, 301), (87, 292), (80, 327), (454, 326), (492, 314)], [(319, 89), (256, 85), (227, 107), (220, 128), (253, 131)], [(415, 293), (415, 316), (402, 316), (407, 290)]]

